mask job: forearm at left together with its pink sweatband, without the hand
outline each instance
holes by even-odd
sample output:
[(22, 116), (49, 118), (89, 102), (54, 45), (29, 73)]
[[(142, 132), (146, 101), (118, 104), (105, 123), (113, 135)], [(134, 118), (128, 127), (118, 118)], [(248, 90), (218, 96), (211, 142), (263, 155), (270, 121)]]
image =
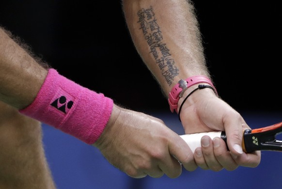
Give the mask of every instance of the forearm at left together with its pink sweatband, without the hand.
[(3, 30), (0, 41), (0, 101), (93, 144), (109, 120), (112, 100), (45, 69)]

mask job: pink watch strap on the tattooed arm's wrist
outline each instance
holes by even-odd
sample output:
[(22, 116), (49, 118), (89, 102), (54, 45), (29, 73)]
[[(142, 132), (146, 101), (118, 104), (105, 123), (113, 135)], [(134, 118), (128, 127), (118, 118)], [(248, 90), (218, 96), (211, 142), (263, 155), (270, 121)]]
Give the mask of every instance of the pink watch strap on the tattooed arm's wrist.
[[(191, 86), (198, 84), (198, 83), (206, 83), (210, 86), (214, 87), (210, 79), (203, 75), (195, 75), (192, 77), (188, 77), (187, 79), (179, 80), (178, 84), (176, 84), (174, 87), (172, 87), (171, 92), (169, 93), (169, 105), (170, 109), (173, 113), (175, 110), (177, 113), (177, 103), (179, 101), (179, 98), (182, 97), (183, 93)], [(215, 87), (214, 87), (215, 88)], [(216, 89), (215, 89), (216, 91)]]

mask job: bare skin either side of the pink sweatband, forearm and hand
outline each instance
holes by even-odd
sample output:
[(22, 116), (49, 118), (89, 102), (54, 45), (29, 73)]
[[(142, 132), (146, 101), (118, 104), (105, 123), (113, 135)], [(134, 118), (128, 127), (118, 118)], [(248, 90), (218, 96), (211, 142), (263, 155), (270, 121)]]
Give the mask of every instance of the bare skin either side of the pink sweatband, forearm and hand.
[[(0, 100), (22, 109), (33, 102), (47, 69), (3, 29), (0, 40)], [(136, 178), (163, 174), (178, 177), (182, 172), (179, 161), (189, 171), (197, 168), (189, 146), (162, 120), (118, 105), (114, 105), (106, 129), (94, 146), (113, 166)]]

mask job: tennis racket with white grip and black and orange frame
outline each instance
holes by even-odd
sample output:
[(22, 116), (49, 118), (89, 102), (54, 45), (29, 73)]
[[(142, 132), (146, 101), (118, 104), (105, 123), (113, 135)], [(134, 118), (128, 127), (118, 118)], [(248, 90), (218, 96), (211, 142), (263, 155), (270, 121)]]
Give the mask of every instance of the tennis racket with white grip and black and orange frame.
[[(281, 151), (282, 141), (276, 140), (276, 135), (282, 133), (282, 122), (259, 129), (247, 129), (243, 133), (242, 148), (246, 153), (257, 150)], [(208, 135), (211, 139), (222, 138), (226, 143), (224, 131), (201, 132), (194, 134), (180, 135), (194, 152), (197, 147), (201, 147), (201, 138)]]

